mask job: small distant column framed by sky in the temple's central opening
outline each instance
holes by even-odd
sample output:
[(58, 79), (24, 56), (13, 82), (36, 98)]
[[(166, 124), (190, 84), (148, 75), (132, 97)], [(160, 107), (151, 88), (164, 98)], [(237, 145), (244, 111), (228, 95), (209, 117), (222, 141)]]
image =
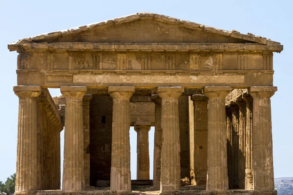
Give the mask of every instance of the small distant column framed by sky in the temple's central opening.
[(137, 133), (137, 172), (136, 179), (149, 179), (148, 132), (149, 121), (137, 121), (134, 130)]

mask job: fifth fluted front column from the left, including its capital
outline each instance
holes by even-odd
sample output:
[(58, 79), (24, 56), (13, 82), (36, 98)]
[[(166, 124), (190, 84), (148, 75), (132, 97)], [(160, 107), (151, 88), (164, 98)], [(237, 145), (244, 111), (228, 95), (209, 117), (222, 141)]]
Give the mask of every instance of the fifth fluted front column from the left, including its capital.
[(228, 190), (225, 97), (231, 87), (205, 87), (209, 98), (207, 190)]

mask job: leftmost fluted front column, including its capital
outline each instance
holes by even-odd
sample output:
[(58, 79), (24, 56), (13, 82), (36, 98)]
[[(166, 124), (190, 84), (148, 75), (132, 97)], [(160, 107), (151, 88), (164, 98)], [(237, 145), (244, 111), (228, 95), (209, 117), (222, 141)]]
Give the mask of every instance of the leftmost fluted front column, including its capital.
[(41, 95), (40, 86), (14, 86), (14, 93), (19, 97), (18, 140), (16, 160), (16, 194), (38, 190), (37, 97)]

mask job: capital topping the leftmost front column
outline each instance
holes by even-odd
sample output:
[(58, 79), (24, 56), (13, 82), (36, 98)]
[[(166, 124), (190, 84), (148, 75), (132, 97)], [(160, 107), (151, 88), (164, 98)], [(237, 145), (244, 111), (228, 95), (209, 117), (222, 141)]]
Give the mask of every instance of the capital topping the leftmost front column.
[(19, 98), (37, 98), (42, 93), (41, 86), (17, 85), (13, 87), (14, 93)]

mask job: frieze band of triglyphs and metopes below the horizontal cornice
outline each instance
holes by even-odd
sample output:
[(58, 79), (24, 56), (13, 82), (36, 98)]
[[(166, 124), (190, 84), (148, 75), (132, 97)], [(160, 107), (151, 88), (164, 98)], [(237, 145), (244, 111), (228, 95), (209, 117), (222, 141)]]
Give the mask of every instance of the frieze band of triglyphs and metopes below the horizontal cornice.
[[(217, 71), (217, 70), (272, 70), (272, 53), (226, 53), (226, 52), (57, 52), (21, 54), (18, 74), (27, 71), (92, 71), (102, 74), (109, 70), (166, 70), (168, 71)], [(93, 71), (96, 70), (96, 71)], [(102, 71), (102, 72), (101, 72)], [(125, 74), (119, 72), (117, 74)], [(151, 74), (151, 72), (142, 72)], [(192, 73), (196, 74), (196, 73)]]

